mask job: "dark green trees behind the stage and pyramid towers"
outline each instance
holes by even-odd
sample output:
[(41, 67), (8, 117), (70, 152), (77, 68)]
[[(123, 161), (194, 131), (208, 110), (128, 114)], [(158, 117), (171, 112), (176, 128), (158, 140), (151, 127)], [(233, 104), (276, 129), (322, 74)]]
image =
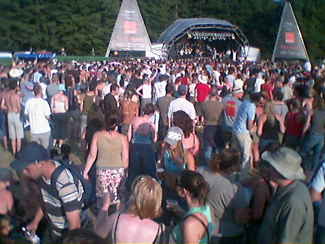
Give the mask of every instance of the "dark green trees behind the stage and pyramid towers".
[[(292, 0), (312, 60), (324, 56), (323, 0)], [(104, 55), (119, 0), (2, 0), (0, 51), (48, 50), (68, 55)], [(217, 18), (237, 25), (251, 46), (270, 58), (283, 0), (138, 0), (152, 43), (179, 18)]]

